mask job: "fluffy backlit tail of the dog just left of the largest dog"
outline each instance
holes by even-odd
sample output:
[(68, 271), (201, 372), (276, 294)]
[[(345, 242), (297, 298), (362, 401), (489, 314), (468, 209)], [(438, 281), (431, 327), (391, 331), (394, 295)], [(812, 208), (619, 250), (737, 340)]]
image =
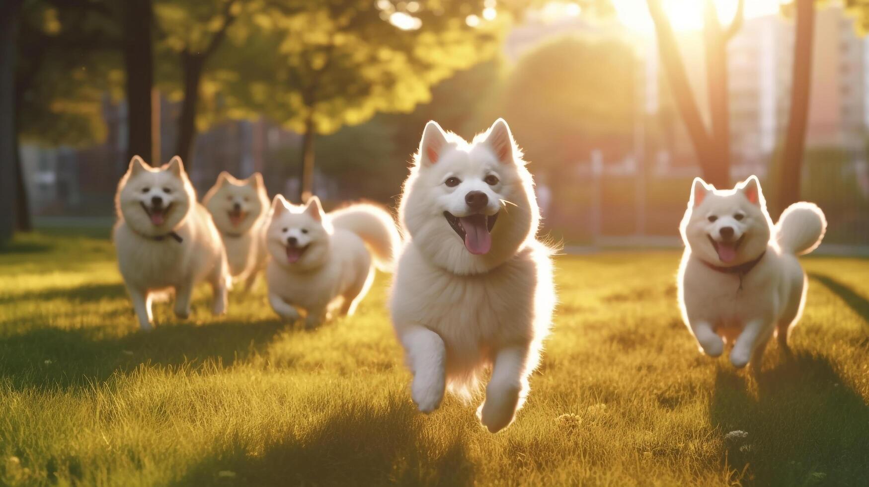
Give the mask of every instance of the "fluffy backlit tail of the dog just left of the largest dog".
[(370, 203), (355, 203), (330, 213), (332, 224), (350, 230), (368, 245), (377, 269), (392, 271), (401, 247), (395, 220), (387, 210)]

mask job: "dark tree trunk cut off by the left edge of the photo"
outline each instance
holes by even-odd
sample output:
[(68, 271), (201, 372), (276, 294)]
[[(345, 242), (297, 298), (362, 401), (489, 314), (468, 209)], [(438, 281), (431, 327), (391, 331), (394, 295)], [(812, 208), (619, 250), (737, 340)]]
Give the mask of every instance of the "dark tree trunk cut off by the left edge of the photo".
[(16, 168), (15, 72), (18, 41), (18, 12), (21, 2), (13, 0), (0, 9), (0, 244), (15, 229)]

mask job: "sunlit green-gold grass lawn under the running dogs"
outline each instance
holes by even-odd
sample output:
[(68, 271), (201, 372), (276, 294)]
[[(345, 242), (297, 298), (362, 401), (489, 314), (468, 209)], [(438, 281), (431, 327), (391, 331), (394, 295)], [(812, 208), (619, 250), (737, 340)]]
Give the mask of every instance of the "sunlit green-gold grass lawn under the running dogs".
[(476, 404), (415, 411), (388, 276), (310, 332), (260, 283), (143, 333), (107, 240), (0, 252), (0, 484), (869, 485), (867, 260), (803, 260), (795, 355), (755, 378), (697, 351), (677, 253), (560, 257), (531, 395), (491, 435)]

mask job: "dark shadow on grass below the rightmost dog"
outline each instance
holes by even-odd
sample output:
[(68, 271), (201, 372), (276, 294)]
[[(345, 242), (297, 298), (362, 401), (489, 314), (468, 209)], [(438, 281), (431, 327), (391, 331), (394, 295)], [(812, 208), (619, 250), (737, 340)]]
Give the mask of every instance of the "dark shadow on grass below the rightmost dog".
[(709, 410), (750, 484), (869, 485), (869, 406), (826, 357), (782, 358), (756, 377), (721, 368)]

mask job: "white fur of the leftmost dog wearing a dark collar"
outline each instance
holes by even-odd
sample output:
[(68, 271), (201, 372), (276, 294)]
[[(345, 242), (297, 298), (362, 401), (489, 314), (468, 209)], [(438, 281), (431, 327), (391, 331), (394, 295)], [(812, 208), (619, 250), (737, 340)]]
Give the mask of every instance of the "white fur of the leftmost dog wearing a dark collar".
[[(169, 207), (160, 224), (145, 209), (153, 208), (154, 198)], [(209, 211), (196, 202), (181, 158), (152, 169), (133, 157), (118, 183), (115, 203), (118, 265), (142, 329), (152, 328), (151, 302), (164, 290), (175, 291), (176, 315), (188, 317), (193, 288), (202, 281), (211, 284), (212, 311), (221, 315), (229, 285), (226, 253)]]

